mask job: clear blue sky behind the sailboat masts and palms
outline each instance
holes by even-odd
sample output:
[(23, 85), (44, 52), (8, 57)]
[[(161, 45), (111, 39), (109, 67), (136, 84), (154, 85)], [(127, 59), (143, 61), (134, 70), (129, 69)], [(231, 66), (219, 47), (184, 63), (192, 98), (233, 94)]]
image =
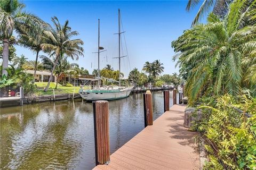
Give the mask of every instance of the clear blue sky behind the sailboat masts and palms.
[[(73, 38), (84, 41), (84, 57), (71, 60), (92, 73), (98, 68), (98, 19), (100, 19), (100, 46), (107, 51), (100, 54), (100, 69), (110, 64), (118, 70), (118, 8), (121, 10), (123, 30), (123, 50), (121, 72), (125, 77), (136, 67), (141, 71), (145, 62), (160, 60), (164, 65), (163, 74), (179, 72), (172, 56), (175, 54), (171, 42), (189, 29), (196, 10), (186, 11), (187, 1), (21, 1), (26, 4), (26, 12), (33, 13), (52, 24), (51, 17), (57, 16), (60, 23), (69, 21), (72, 30), (79, 32)], [(16, 46), (17, 55), (24, 54), (28, 60), (35, 60), (29, 49)], [(41, 55), (44, 55), (41, 52)]]

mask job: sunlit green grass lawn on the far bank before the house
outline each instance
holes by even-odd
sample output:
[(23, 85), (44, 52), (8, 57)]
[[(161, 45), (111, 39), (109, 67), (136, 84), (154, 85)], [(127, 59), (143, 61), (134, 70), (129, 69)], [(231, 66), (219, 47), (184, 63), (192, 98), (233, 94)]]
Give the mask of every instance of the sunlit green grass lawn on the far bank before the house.
[[(51, 82), (50, 87), (47, 90), (47, 92), (44, 92), (44, 87), (47, 86), (47, 82), (35, 82), (38, 90), (36, 91), (37, 96), (42, 96), (42, 95), (53, 95), (53, 89), (56, 86), (56, 83)], [(66, 87), (62, 86), (61, 84), (58, 84), (57, 89), (54, 89), (55, 95), (58, 94), (73, 94), (75, 89), (75, 93), (78, 93), (80, 87)]]

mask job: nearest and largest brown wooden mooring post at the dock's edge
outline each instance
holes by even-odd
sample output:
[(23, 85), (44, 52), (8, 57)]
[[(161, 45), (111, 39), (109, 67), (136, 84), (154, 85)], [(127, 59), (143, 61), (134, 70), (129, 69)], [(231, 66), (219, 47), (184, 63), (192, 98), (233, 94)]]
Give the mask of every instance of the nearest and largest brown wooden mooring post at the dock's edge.
[(93, 101), (95, 164), (109, 164), (108, 101)]

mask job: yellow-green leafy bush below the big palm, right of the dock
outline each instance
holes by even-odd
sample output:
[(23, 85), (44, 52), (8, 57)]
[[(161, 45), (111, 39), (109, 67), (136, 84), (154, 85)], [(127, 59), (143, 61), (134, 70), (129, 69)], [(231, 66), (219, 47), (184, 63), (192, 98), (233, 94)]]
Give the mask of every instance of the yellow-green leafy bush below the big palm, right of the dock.
[(194, 128), (206, 138), (204, 169), (256, 169), (256, 99), (222, 96), (198, 107)]

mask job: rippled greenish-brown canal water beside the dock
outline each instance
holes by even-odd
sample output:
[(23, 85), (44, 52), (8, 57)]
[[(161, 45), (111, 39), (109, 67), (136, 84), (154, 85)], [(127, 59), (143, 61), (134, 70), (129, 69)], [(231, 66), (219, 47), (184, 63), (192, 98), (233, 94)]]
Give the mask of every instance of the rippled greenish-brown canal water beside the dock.
[[(163, 92), (153, 92), (154, 120), (164, 112), (163, 100)], [(95, 166), (92, 103), (77, 99), (0, 110), (0, 169)], [(144, 128), (143, 116), (142, 94), (109, 101), (111, 153)]]

